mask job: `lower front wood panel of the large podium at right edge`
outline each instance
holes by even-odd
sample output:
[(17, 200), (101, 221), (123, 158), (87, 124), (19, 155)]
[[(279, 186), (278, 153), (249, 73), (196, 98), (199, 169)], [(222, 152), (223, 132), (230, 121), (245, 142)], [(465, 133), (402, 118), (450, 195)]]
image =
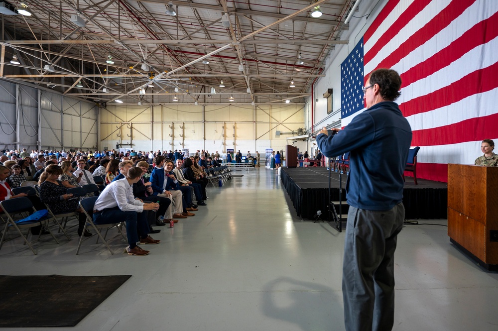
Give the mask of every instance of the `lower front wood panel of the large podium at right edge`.
[(448, 235), (477, 258), (486, 262), (486, 226), (448, 208)]

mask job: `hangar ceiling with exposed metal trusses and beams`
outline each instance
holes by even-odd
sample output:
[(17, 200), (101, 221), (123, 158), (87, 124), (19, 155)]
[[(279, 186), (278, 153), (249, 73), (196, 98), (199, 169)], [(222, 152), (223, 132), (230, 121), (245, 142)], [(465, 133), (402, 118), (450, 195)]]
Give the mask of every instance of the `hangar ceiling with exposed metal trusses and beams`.
[(104, 106), (301, 104), (334, 45), (348, 43), (355, 0), (172, 0), (176, 16), (165, 2), (28, 1), (32, 16), (2, 15), (0, 77)]

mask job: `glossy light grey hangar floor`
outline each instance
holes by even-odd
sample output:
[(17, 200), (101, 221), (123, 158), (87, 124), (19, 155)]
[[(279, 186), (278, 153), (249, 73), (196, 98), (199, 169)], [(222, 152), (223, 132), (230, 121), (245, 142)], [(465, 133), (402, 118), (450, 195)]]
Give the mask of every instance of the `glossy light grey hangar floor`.
[[(298, 219), (276, 171), (253, 169), (208, 188), (208, 206), (160, 227), (153, 237), (162, 242), (144, 247), (148, 256), (123, 254), (118, 237), (114, 255), (91, 240), (76, 256), (73, 228), (73, 240), (38, 243), (36, 256), (8, 241), (0, 273), (132, 275), (60, 331), (344, 330), (344, 233)], [(446, 220), (420, 222), (431, 225), (407, 225), (398, 236), (394, 330), (498, 330), (498, 274), (450, 244)]]

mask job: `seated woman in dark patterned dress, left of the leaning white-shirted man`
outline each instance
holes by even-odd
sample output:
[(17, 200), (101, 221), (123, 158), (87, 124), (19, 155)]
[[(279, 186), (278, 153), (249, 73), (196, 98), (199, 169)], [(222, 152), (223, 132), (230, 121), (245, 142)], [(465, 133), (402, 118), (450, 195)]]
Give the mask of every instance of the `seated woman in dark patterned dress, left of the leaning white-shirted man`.
[[(58, 179), (60, 175), (62, 175), (62, 168), (56, 164), (50, 164), (45, 168), (38, 181), (40, 200), (46, 203), (55, 215), (81, 212), (79, 208), (80, 200), (73, 199), (73, 195), (67, 193), (67, 188)], [(78, 226), (78, 235), (80, 236), (83, 233), (85, 220), (85, 214), (80, 213)], [(86, 237), (91, 235), (88, 230), (85, 232)]]

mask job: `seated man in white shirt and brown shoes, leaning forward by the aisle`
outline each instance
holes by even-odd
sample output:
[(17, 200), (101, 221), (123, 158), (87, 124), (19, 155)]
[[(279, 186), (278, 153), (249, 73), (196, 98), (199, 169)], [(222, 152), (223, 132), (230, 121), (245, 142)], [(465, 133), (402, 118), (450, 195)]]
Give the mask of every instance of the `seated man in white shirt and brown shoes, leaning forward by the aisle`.
[[(132, 185), (140, 180), (142, 169), (132, 167), (128, 170), (126, 178), (112, 182), (95, 202), (93, 221), (96, 224), (111, 224), (117, 221), (126, 222), (126, 236), (129, 246), (125, 248), (128, 255), (147, 255), (144, 250), (136, 245), (157, 244), (160, 240), (154, 240), (148, 235), (147, 217), (143, 211), (157, 210), (159, 204), (144, 204), (135, 200)], [(138, 233), (137, 233), (138, 230)]]

